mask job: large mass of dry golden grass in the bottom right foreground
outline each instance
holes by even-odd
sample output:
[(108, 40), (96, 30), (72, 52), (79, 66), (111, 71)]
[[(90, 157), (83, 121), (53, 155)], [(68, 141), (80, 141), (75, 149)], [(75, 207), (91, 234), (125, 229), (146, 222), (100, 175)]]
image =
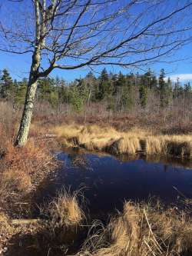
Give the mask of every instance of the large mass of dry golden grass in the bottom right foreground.
[(192, 221), (173, 209), (124, 203), (107, 228), (93, 234), (81, 256), (181, 256), (192, 253)]

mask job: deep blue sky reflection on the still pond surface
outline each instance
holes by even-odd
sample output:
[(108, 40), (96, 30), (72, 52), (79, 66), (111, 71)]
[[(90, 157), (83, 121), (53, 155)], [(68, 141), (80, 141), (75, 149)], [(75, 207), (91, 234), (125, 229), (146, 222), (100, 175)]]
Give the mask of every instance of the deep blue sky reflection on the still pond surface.
[(64, 161), (58, 181), (71, 190), (84, 186), (91, 211), (111, 211), (121, 208), (125, 199), (141, 201), (149, 196), (175, 203), (178, 191), (192, 198), (192, 168), (75, 152), (58, 154), (58, 159)]

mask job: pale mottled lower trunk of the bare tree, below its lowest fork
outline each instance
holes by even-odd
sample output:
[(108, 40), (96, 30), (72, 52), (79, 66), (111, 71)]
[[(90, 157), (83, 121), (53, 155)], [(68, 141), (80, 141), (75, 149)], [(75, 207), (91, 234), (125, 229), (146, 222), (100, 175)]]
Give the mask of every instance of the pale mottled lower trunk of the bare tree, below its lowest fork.
[(28, 89), (25, 98), (25, 106), (22, 114), (22, 121), (18, 130), (18, 135), (15, 141), (15, 146), (22, 147), (28, 139), (28, 131), (31, 125), (31, 116), (34, 107), (35, 93), (37, 90), (37, 79), (28, 81)]

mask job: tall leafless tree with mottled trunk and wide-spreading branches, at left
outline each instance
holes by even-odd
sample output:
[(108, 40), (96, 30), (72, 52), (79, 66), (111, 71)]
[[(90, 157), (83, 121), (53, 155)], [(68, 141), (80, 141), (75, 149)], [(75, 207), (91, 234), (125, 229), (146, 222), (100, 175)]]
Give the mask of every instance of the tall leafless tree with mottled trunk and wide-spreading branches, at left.
[(0, 50), (31, 56), (15, 145), (27, 141), (38, 78), (55, 68), (160, 60), (190, 41), (191, 8), (189, 0), (6, 0)]

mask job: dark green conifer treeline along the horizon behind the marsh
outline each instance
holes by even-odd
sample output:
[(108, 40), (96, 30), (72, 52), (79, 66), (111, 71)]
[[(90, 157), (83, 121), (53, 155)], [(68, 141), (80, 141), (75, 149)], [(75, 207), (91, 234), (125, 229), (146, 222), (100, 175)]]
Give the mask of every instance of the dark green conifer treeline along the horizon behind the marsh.
[[(25, 101), (27, 79), (12, 80), (7, 69), (0, 73), (0, 99), (22, 105)], [(165, 79), (164, 69), (160, 76), (150, 69), (144, 74), (123, 75), (110, 73), (104, 68), (96, 78), (89, 72), (85, 78), (67, 83), (60, 78), (42, 78), (38, 81), (37, 101), (48, 101), (53, 107), (68, 104), (74, 111), (81, 111), (90, 102), (101, 102), (107, 110), (128, 111), (136, 105), (146, 108), (151, 98), (156, 105), (167, 108), (182, 98), (192, 102), (190, 83), (181, 85), (180, 81)]]

